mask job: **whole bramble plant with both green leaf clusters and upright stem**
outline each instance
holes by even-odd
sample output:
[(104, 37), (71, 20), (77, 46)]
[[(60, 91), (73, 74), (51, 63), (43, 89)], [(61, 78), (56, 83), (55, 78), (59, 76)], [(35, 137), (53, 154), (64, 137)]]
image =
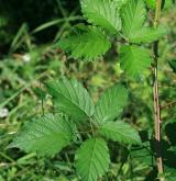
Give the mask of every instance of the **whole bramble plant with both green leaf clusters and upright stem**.
[[(167, 31), (158, 25), (162, 0), (81, 0), (86, 24), (75, 25), (58, 42), (58, 47), (74, 59), (95, 60), (103, 56), (114, 41), (121, 43), (120, 66), (131, 80), (143, 81), (154, 69), (155, 142), (158, 179), (164, 180), (161, 156), (161, 117), (157, 86), (158, 39)], [(147, 9), (155, 10), (153, 24), (146, 21)], [(153, 53), (148, 48), (153, 44)], [(154, 63), (153, 63), (154, 60)], [(153, 64), (152, 64), (153, 63)], [(38, 155), (54, 156), (70, 144), (80, 145), (75, 168), (82, 181), (102, 178), (110, 166), (109, 140), (123, 146), (142, 145), (136, 129), (122, 121), (128, 89), (114, 84), (94, 104), (87, 90), (75, 79), (63, 78), (47, 83), (56, 114), (46, 114), (24, 125), (10, 147)]]

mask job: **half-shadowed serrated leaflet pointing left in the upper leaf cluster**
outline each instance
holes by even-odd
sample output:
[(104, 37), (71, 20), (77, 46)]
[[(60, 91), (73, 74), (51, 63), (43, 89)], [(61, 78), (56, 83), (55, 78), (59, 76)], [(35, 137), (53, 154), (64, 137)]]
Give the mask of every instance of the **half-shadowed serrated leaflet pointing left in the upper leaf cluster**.
[(58, 42), (58, 46), (66, 52), (70, 52), (75, 59), (91, 60), (102, 56), (111, 44), (100, 29), (77, 25), (67, 37)]

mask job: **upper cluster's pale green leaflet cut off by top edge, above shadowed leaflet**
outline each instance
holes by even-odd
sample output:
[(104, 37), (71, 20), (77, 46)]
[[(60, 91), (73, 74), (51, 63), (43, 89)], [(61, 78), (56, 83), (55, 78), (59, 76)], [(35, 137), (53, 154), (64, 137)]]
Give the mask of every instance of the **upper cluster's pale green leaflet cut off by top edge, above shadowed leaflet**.
[(121, 19), (113, 0), (81, 0), (81, 10), (90, 23), (112, 34), (120, 31)]

